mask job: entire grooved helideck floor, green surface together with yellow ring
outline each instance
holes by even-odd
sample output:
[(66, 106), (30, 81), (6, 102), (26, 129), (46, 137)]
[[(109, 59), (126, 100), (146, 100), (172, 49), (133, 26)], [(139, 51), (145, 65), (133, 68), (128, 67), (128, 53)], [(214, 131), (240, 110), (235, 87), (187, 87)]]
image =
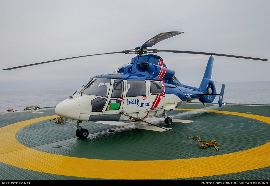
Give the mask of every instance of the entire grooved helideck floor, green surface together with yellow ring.
[[(76, 124), (57, 124), (50, 121), (50, 116), (55, 115), (55, 109), (42, 109), (39, 112), (42, 113), (31, 113), (31, 111), (0, 113), (1, 180), (106, 180), (109, 178), (269, 180), (270, 177), (269, 158), (265, 158), (270, 154), (270, 148), (265, 148), (265, 152), (259, 149), (260, 146), (266, 147), (270, 142), (270, 125), (267, 123), (268, 118), (270, 119), (269, 106), (222, 105), (219, 108), (211, 104), (206, 106), (185, 104), (168, 112), (168, 116), (172, 117), (174, 122), (170, 130), (180, 135), (170, 131), (149, 130), (154, 129), (154, 126), (140, 122), (121, 121), (114, 123), (115, 125), (104, 122), (82, 122), (82, 127), (89, 130), (87, 139), (76, 137)], [(39, 119), (42, 117), (46, 119)], [(27, 123), (28, 120), (31, 124)], [(147, 121), (164, 127), (162, 117), (147, 119)], [(192, 122), (188, 123), (189, 121)], [(140, 124), (144, 129), (134, 127), (135, 123)], [(146, 128), (148, 129), (145, 130)], [(114, 132), (108, 132), (110, 129)], [(200, 136), (201, 140), (205, 141), (215, 139), (220, 150), (201, 149), (198, 142), (185, 136)], [(55, 145), (62, 145), (62, 147), (52, 148)], [(243, 160), (228, 160), (230, 157), (237, 157), (237, 154), (243, 154)], [(39, 158), (35, 159), (35, 156)], [(201, 165), (196, 163), (192, 164), (192, 161), (208, 160), (210, 156), (215, 164), (208, 164), (206, 168), (200, 168)], [(254, 161), (253, 164), (241, 164), (245, 157), (247, 162), (249, 159), (258, 159), (258, 161)], [(66, 162), (67, 170), (77, 160), (85, 162), (86, 170), (78, 174), (78, 171), (73, 173), (71, 168), (65, 173), (63, 164), (54, 162), (59, 158), (62, 162)], [(105, 163), (108, 167), (102, 170), (105, 161), (108, 162)], [(234, 161), (239, 165), (232, 168), (235, 169), (233, 173), (229, 173), (232, 170), (228, 166), (232, 163), (231, 167), (233, 167)], [(89, 167), (93, 166), (88, 170), (87, 162), (90, 162)], [(101, 168), (95, 170), (91, 162), (96, 162)], [(155, 162), (160, 163), (155, 164)], [(223, 164), (223, 162), (227, 163)], [(44, 163), (44, 167), (31, 168), (31, 164), (35, 163)], [(122, 164), (120, 167), (123, 168), (114, 170), (116, 167), (110, 167), (110, 164), (116, 166)], [(127, 175), (130, 170), (125, 170), (125, 166), (136, 166), (136, 164), (138, 167), (134, 167), (133, 172)], [(153, 171), (157, 175), (143, 173), (147, 166), (153, 169), (148, 168), (149, 172)], [(213, 170), (214, 166), (218, 167), (215, 171), (218, 175), (211, 171), (203, 172), (203, 169)], [(242, 168), (240, 169), (239, 166)], [(167, 170), (171, 175), (164, 175), (159, 172), (160, 170)], [(183, 173), (180, 173), (180, 170), (184, 170)], [(114, 177), (113, 173), (117, 177)], [(185, 176), (186, 174), (190, 176)], [(95, 177), (89, 177), (91, 175)]]

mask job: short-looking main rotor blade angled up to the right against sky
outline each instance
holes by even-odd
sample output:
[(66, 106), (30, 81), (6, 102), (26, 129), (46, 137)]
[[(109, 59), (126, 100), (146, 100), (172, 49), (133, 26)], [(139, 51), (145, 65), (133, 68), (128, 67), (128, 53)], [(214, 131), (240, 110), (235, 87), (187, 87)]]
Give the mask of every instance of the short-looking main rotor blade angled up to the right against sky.
[(163, 41), (164, 39), (168, 39), (173, 36), (177, 36), (178, 34), (181, 34), (184, 32), (161, 32), (160, 34), (156, 35), (155, 37), (149, 39), (147, 42), (143, 43), (141, 46), (141, 49), (145, 49), (147, 47), (152, 47), (158, 42)]

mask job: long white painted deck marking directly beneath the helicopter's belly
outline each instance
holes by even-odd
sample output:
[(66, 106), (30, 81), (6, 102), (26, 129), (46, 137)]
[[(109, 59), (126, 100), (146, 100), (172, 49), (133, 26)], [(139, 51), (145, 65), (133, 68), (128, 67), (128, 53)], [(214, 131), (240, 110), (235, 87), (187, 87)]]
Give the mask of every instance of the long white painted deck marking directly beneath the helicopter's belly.
[[(128, 124), (128, 123), (117, 122), (117, 121), (96, 121), (95, 123), (102, 123), (102, 124), (115, 125), (115, 126), (124, 126), (124, 125)], [(167, 130), (171, 129), (171, 128), (167, 128), (167, 127), (162, 127), (165, 129), (161, 129), (161, 128), (156, 127), (156, 126), (149, 126), (149, 125), (140, 124), (140, 122), (134, 122), (134, 124), (130, 123), (130, 125), (128, 125), (126, 127), (134, 128), (134, 129), (153, 130), (153, 131), (158, 131), (158, 132), (163, 132), (163, 131), (165, 131), (165, 129), (167, 129)]]

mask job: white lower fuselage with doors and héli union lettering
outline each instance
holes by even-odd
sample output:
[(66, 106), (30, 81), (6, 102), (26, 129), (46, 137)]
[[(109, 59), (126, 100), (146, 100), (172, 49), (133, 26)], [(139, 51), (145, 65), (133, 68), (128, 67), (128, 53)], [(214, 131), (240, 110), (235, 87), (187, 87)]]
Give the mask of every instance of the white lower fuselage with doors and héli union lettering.
[[(143, 85), (145, 82), (145, 87), (140, 87), (142, 81)], [(135, 86), (134, 82), (141, 84)], [(157, 93), (160, 90), (154, 90), (153, 86), (158, 86), (154, 82), (162, 85), (161, 92)], [(116, 83), (122, 84), (121, 87), (120, 85), (117, 87)], [(162, 81), (110, 79), (110, 85), (100, 83), (96, 86), (98, 86), (94, 87), (96, 92), (99, 87), (105, 87), (103, 91), (107, 91), (107, 94), (99, 96), (83, 92), (82, 95), (79, 93), (70, 96), (56, 106), (56, 114), (63, 118), (82, 121), (122, 121), (128, 118), (121, 113), (127, 113), (139, 119), (151, 118), (162, 115), (165, 109), (169, 111), (176, 108), (176, 105), (182, 102), (174, 94), (164, 94), (165, 87)]]

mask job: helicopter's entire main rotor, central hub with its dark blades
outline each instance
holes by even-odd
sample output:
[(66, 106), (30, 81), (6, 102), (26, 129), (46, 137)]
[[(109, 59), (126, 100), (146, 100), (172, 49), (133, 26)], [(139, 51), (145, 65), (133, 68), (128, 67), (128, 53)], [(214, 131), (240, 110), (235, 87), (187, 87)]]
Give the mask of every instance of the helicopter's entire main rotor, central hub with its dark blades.
[(3, 69), (3, 70), (12, 70), (12, 69), (16, 69), (16, 68), (29, 67), (29, 66), (34, 66), (34, 65), (44, 64), (44, 63), (51, 63), (51, 62), (55, 62), (55, 61), (62, 61), (62, 60), (80, 58), (80, 57), (97, 56), (97, 55), (103, 55), (103, 54), (119, 54), (119, 53), (136, 54), (136, 56), (142, 56), (142, 55), (145, 55), (147, 53), (172, 52), (172, 53), (203, 54), (203, 55), (212, 55), (212, 56), (236, 57), (236, 58), (244, 58), (244, 59), (268, 61), (267, 59), (261, 59), (261, 58), (244, 57), (244, 56), (234, 56), (234, 55), (227, 55), (227, 54), (207, 53), (207, 52), (147, 49), (148, 47), (152, 47), (155, 44), (157, 44), (157, 43), (159, 43), (159, 42), (161, 42), (161, 41), (163, 41), (165, 39), (168, 39), (168, 38), (173, 37), (173, 36), (177, 36), (177, 35), (179, 35), (181, 33), (184, 33), (184, 32), (161, 32), (160, 34), (156, 35), (155, 37), (153, 37), (153, 38), (149, 39), (148, 41), (146, 41), (145, 43), (143, 43), (142, 46), (136, 47), (135, 49), (131, 49), (131, 50), (123, 50), (123, 51), (119, 51), (119, 52), (110, 52), (110, 53), (102, 53), (102, 54), (91, 54), (91, 55), (86, 55), (86, 56), (63, 58), (63, 59), (58, 59), (58, 60), (45, 61), (45, 62), (41, 62), (41, 63), (33, 63), (33, 64), (29, 64), (29, 65), (23, 65), (23, 66), (18, 66), (18, 67), (6, 68), (6, 69)]

